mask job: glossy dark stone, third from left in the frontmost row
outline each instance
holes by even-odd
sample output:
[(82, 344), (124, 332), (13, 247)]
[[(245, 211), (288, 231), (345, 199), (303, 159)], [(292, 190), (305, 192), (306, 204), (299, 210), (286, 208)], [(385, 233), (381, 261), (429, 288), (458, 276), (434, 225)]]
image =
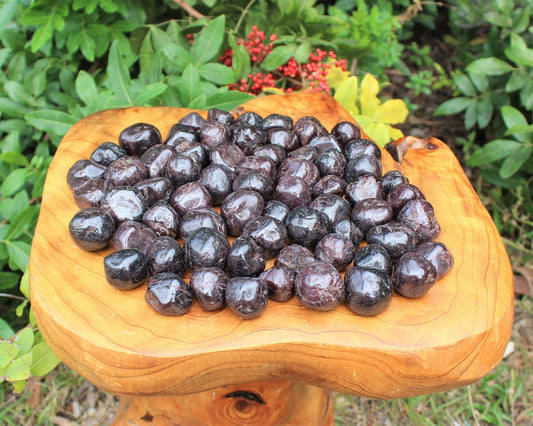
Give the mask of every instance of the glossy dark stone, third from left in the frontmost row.
[(226, 284), (226, 304), (242, 319), (258, 318), (268, 304), (268, 285), (258, 277), (233, 277)]

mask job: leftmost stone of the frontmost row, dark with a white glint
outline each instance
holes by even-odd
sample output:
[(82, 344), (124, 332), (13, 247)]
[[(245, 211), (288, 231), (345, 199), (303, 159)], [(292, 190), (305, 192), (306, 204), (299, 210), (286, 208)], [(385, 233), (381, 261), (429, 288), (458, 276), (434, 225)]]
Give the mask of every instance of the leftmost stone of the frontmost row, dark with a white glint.
[(145, 300), (159, 314), (184, 315), (191, 308), (192, 291), (179, 275), (162, 272), (148, 279)]

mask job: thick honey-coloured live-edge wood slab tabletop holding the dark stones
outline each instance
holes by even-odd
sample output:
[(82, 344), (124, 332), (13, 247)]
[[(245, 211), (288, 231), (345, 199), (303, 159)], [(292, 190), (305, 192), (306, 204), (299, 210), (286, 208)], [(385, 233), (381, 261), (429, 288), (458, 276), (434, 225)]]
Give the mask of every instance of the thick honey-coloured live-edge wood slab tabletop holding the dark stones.
[[(240, 111), (314, 115), (331, 130), (353, 120), (320, 94), (254, 99)], [(451, 150), (437, 139), (406, 138), (403, 161), (383, 151), (384, 170), (402, 171), (433, 204), (455, 257), (453, 270), (420, 299), (393, 297), (370, 318), (345, 306), (314, 312), (293, 298), (269, 301), (242, 320), (229, 309), (166, 317), (144, 287), (107, 284), (103, 258), (79, 249), (68, 224), (78, 208), (66, 183), (75, 161), (136, 122), (163, 138), (190, 110), (103, 111), (76, 123), (50, 166), (30, 259), (31, 302), (39, 327), (64, 362), (117, 395), (175, 396), (245, 382), (282, 380), (372, 398), (401, 398), (467, 385), (502, 358), (513, 314), (512, 271), (500, 236)], [(202, 112), (205, 116), (205, 111)]]

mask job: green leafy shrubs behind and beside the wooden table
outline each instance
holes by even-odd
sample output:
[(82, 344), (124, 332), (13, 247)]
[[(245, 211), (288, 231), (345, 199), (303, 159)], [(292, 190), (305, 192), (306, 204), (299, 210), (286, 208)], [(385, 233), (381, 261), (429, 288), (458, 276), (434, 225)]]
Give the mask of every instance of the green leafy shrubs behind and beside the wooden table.
[[(420, 2), (409, 0), (188, 3), (204, 17), (191, 18), (171, 0), (0, 0), (0, 380), (21, 390), (25, 378), (58, 362), (33, 321), (23, 274), (61, 137), (108, 108), (241, 104), (251, 95), (227, 85), (258, 71), (237, 44), (253, 25), (278, 36), (264, 70), (291, 56), (305, 61), (320, 47), (347, 59), (360, 77), (370, 72), (386, 83), (393, 68), (418, 93), (449, 87), (450, 99), (436, 113), (464, 120), (466, 165), (480, 193), (489, 194), (511, 252), (531, 261), (531, 0), (453, 0), (417, 10)], [(443, 23), (456, 51), (451, 75), (413, 42), (416, 31), (439, 31)], [(232, 68), (218, 61), (226, 48), (234, 49)], [(405, 65), (406, 56), (419, 73)]]

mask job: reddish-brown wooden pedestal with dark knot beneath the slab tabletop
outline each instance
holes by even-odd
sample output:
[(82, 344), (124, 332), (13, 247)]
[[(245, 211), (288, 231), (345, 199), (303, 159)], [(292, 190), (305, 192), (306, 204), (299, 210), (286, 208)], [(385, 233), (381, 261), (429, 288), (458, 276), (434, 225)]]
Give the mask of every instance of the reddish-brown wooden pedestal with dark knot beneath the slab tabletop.
[(122, 397), (113, 426), (333, 426), (326, 389), (290, 381), (224, 386), (192, 395)]

